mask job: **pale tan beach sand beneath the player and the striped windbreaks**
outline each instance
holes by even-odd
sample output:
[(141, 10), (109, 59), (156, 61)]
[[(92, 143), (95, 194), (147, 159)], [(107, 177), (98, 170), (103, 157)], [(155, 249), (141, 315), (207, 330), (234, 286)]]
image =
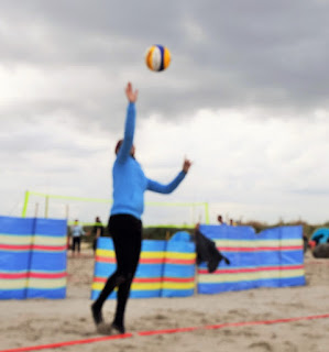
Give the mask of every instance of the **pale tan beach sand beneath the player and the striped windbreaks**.
[[(125, 324), (132, 338), (58, 348), (55, 351), (329, 351), (329, 318), (276, 324), (202, 327), (329, 314), (329, 260), (306, 254), (307, 285), (261, 288), (188, 298), (131, 299)], [(98, 338), (90, 316), (94, 257), (84, 249), (68, 255), (64, 300), (0, 301), (0, 351), (20, 346)], [(116, 302), (105, 305), (110, 322)], [(195, 331), (142, 337), (138, 331), (199, 327)], [(46, 350), (50, 351), (50, 350)]]

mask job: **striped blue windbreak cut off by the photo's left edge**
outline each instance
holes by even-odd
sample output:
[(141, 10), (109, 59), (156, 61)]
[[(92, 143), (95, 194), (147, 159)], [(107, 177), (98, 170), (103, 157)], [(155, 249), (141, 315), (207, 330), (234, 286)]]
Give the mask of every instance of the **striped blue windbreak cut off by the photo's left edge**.
[(65, 298), (66, 220), (0, 217), (0, 299)]

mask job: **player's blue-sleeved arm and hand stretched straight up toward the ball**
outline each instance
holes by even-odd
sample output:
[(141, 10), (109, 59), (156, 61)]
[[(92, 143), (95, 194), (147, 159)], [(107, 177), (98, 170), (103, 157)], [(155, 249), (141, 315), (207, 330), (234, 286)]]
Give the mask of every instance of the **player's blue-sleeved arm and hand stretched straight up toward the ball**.
[(138, 90), (133, 90), (131, 82), (125, 87), (125, 96), (129, 101), (127, 109), (125, 124), (124, 124), (124, 136), (120, 150), (118, 152), (118, 161), (124, 162), (130, 155), (131, 147), (133, 145), (133, 136), (135, 130), (135, 101), (138, 100)]

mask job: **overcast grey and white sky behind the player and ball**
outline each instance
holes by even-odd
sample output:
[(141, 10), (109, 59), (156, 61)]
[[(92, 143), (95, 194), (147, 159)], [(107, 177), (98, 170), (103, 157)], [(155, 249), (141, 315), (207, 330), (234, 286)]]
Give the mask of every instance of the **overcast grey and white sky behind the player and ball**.
[[(146, 176), (166, 183), (194, 162), (147, 202), (209, 202), (213, 223), (328, 221), (328, 23), (325, 0), (1, 0), (0, 215), (19, 216), (25, 190), (111, 199), (131, 80)], [(152, 44), (171, 51), (166, 72), (146, 68)], [(79, 207), (70, 219), (110, 209)], [(144, 222), (205, 220), (176, 210), (146, 206)]]

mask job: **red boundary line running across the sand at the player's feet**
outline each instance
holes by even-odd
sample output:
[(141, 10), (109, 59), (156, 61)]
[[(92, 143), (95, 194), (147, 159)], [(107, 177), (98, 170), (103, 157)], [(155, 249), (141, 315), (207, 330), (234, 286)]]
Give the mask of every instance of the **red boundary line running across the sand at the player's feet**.
[[(292, 321), (300, 321), (300, 320), (326, 319), (326, 318), (329, 318), (329, 314), (318, 315), (318, 316), (308, 316), (308, 317), (273, 319), (273, 320), (227, 322), (227, 323), (205, 326), (205, 327), (189, 327), (189, 328), (178, 328), (178, 329), (140, 331), (140, 332), (136, 332), (135, 336), (149, 337), (149, 336), (154, 336), (154, 334), (168, 334), (168, 333), (187, 332), (187, 331), (195, 331), (195, 330), (202, 330), (202, 329), (217, 330), (217, 329), (223, 329), (223, 328), (239, 328), (239, 327), (246, 327), (246, 326), (274, 324), (274, 323), (283, 323), (283, 322), (292, 322)], [(26, 351), (57, 349), (57, 348), (75, 345), (75, 344), (86, 344), (86, 343), (108, 341), (108, 340), (128, 339), (128, 338), (132, 338), (134, 334), (132, 334), (132, 333), (123, 333), (123, 334), (116, 334), (116, 336), (100, 337), (100, 338), (92, 338), (92, 339), (85, 339), (85, 340), (74, 340), (74, 341), (65, 341), (65, 342), (57, 342), (57, 343), (50, 343), (50, 344), (40, 344), (40, 345), (26, 346), (26, 348), (1, 350), (0, 352), (26, 352)]]

